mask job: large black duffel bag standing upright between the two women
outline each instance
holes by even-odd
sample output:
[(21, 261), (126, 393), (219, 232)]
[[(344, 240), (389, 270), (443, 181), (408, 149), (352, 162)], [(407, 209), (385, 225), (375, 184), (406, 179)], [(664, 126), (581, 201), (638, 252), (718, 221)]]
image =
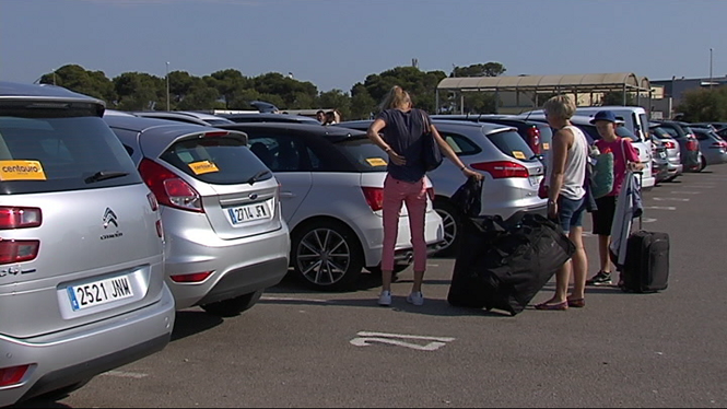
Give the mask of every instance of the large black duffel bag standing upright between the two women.
[(539, 214), (465, 223), (447, 301), (520, 313), (575, 253), (562, 229)]

